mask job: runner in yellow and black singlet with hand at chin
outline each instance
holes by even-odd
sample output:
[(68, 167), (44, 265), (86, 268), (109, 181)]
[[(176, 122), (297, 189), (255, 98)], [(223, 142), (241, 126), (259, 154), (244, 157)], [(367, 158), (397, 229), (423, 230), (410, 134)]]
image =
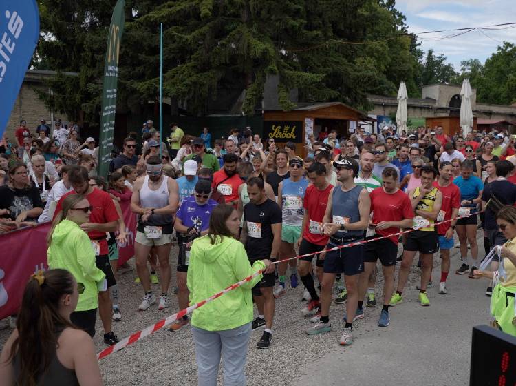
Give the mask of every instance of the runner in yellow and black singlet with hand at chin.
[(430, 305), (427, 297), (427, 284), (430, 280), (433, 265), (433, 254), (437, 252), (437, 233), (433, 225), (437, 219), (442, 204), (442, 193), (433, 187), (436, 171), (431, 166), (421, 168), (421, 186), (409, 191), (409, 198), (414, 210), (413, 232), (407, 236), (405, 252), (398, 274), (398, 288), (391, 298), (391, 306), (403, 301), (401, 292), (407, 284), (410, 268), (416, 252), (421, 258), (421, 285), (419, 302)]

